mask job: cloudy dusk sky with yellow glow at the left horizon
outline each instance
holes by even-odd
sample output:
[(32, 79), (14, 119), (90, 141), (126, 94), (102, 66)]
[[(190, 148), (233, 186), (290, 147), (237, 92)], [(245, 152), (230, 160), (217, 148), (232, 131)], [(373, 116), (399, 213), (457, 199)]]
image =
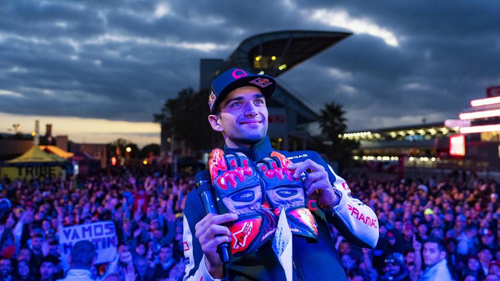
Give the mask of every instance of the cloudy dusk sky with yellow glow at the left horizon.
[[(279, 77), (348, 130), (457, 118), (500, 85), (500, 1), (7, 0), (0, 5), (0, 132), (34, 119), (75, 141), (159, 142), (168, 97), (200, 58), (301, 29), (354, 34)], [(44, 133), (44, 129), (41, 130)]]

